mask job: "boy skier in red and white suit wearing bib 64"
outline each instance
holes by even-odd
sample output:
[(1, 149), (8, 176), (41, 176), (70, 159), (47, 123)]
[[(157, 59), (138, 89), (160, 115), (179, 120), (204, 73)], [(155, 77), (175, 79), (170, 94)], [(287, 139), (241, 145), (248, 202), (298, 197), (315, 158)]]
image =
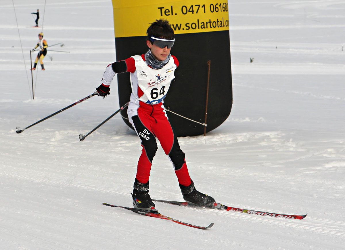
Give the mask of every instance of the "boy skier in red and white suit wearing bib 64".
[(171, 80), (175, 78), (174, 71), (179, 65), (177, 58), (170, 55), (175, 42), (174, 30), (167, 20), (159, 19), (151, 23), (146, 33), (146, 54), (109, 64), (101, 85), (96, 89), (98, 95), (104, 98), (109, 94), (109, 85), (116, 73), (130, 73), (132, 93), (127, 113), (142, 147), (132, 193), (133, 206), (156, 211), (148, 192), (152, 160), (158, 149), (157, 137), (174, 166), (184, 200), (198, 206), (212, 207), (215, 200), (194, 187), (185, 153), (180, 149), (163, 105)]

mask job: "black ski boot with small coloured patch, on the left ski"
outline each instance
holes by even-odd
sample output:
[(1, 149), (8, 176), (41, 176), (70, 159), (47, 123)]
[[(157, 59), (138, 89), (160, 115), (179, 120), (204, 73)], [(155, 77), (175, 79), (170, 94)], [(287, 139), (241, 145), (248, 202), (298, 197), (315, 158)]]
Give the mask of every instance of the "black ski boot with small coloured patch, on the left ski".
[(134, 189), (132, 193), (133, 207), (136, 209), (156, 212), (155, 203), (151, 200), (149, 195), (149, 183), (142, 184), (137, 179), (134, 182)]

